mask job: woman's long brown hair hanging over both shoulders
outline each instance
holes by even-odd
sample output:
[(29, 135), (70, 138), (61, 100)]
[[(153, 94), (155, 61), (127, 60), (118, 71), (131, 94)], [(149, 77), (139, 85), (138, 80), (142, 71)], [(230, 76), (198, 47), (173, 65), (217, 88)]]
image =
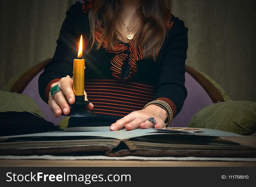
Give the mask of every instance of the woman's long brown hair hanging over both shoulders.
[[(102, 35), (97, 43), (97, 49), (106, 42), (105, 46), (113, 50), (113, 44), (117, 42), (118, 30), (113, 27), (120, 23), (120, 15), (123, 10), (122, 0), (97, 0), (89, 12), (90, 31), (95, 43), (95, 30), (103, 25)], [(156, 59), (166, 36), (166, 25), (170, 22), (171, 0), (140, 0), (137, 10), (140, 16), (140, 24), (143, 25), (135, 34), (133, 43), (135, 49), (138, 42), (143, 49), (143, 58)], [(101, 16), (98, 17), (100, 12)], [(91, 47), (92, 47), (91, 46)]]

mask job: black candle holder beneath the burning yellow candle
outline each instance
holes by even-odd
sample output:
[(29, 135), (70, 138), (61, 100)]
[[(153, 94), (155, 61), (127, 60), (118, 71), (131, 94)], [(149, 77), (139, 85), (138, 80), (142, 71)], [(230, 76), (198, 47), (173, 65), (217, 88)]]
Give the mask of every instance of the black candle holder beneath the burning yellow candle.
[(70, 105), (70, 113), (63, 116), (70, 117), (93, 117), (96, 114), (93, 111), (88, 110), (86, 107), (89, 105), (90, 101), (85, 101), (83, 96), (75, 96), (74, 104)]

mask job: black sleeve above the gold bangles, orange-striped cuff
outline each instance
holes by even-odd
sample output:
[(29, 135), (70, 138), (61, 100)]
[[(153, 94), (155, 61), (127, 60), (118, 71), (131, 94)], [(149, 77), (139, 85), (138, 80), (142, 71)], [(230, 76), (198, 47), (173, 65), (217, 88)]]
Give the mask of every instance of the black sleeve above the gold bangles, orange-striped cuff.
[(167, 49), (160, 60), (161, 72), (157, 83), (156, 100), (166, 101), (176, 116), (182, 109), (187, 96), (185, 83), (185, 60), (188, 48), (188, 28), (184, 22), (172, 17), (172, 27), (168, 31)]

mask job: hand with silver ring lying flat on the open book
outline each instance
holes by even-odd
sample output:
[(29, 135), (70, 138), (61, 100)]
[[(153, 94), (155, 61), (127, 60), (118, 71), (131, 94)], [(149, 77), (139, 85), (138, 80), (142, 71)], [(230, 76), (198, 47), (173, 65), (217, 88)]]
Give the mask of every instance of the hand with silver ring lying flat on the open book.
[[(154, 124), (147, 119), (153, 117), (156, 120), (156, 124)], [(125, 127), (127, 131), (133, 129), (145, 129), (147, 127), (154, 128), (164, 128), (164, 121), (167, 119), (167, 113), (164, 109), (157, 105), (148, 105), (143, 110), (138, 110), (129, 113), (127, 116), (117, 120), (115, 123), (111, 124), (110, 130), (117, 131)]]

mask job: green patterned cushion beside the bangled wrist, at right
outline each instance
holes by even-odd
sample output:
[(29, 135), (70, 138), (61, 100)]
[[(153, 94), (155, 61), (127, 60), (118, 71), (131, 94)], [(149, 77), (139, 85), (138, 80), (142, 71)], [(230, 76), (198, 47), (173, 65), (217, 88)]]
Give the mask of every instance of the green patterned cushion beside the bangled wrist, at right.
[(256, 102), (226, 101), (209, 105), (191, 118), (188, 127), (248, 135), (256, 131)]

